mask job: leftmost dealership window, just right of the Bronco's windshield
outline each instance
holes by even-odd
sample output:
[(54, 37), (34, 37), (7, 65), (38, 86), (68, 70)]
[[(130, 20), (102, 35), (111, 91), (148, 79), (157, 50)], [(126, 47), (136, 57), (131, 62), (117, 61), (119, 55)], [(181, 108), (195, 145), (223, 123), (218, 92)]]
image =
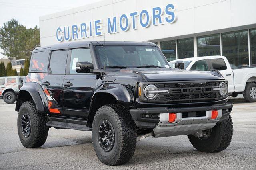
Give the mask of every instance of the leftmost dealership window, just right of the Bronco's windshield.
[(176, 40), (162, 41), (161, 50), (167, 61), (176, 60)]

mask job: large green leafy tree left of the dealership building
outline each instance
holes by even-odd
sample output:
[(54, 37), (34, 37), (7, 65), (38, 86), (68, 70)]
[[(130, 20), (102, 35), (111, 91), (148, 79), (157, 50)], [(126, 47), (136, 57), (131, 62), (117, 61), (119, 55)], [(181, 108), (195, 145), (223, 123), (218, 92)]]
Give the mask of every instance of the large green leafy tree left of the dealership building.
[(30, 59), (32, 50), (40, 46), (38, 27), (26, 29), (14, 18), (0, 28), (2, 54), (16, 59)]

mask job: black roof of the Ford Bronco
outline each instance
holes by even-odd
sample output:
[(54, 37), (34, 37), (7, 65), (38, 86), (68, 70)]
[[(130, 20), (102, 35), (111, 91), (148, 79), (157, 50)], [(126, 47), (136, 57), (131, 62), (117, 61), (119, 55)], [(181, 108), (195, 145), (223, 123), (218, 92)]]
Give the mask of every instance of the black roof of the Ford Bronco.
[(77, 42), (68, 42), (68, 43), (59, 43), (54, 45), (48, 45), (43, 47), (37, 47), (38, 49), (46, 49), (50, 48), (51, 50), (59, 50), (59, 49), (72, 49), (72, 48), (83, 48), (89, 47), (90, 43), (98, 44), (98, 45), (144, 45), (144, 46), (157, 46), (151, 42), (132, 42), (132, 41), (77, 41)]

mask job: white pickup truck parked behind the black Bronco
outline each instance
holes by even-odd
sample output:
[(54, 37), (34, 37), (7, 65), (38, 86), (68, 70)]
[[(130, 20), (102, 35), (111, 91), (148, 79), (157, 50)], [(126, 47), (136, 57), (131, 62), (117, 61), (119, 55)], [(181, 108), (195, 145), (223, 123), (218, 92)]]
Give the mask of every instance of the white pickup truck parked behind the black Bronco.
[[(178, 61), (178, 62), (177, 62)], [(247, 102), (256, 102), (256, 67), (231, 68), (224, 56), (205, 56), (178, 59), (170, 61), (170, 67), (175, 63), (184, 63), (185, 70), (210, 71), (219, 70), (228, 80), (228, 93), (236, 97), (243, 94)]]

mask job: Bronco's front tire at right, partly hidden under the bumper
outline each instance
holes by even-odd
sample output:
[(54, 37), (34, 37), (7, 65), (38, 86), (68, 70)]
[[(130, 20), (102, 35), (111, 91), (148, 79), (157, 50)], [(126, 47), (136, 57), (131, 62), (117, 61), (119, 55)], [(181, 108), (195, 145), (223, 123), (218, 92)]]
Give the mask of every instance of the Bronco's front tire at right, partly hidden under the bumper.
[(233, 123), (231, 116), (228, 115), (227, 119), (217, 123), (210, 133), (210, 137), (206, 139), (199, 139), (194, 135), (188, 135), (191, 144), (201, 152), (221, 152), (226, 149), (232, 140)]

